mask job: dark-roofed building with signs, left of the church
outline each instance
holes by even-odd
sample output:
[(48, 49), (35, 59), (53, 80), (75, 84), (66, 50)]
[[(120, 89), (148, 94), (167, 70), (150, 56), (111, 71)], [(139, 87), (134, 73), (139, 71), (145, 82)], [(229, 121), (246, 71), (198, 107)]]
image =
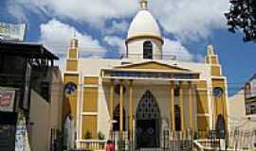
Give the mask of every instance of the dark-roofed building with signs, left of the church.
[(63, 80), (56, 59), (42, 44), (0, 42), (0, 150), (57, 149)]

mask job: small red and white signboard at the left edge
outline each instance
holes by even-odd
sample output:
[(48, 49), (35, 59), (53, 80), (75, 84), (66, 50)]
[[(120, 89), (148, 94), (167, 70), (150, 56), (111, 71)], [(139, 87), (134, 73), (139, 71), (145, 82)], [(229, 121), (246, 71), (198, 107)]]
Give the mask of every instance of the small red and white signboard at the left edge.
[(15, 91), (0, 89), (0, 111), (13, 111)]

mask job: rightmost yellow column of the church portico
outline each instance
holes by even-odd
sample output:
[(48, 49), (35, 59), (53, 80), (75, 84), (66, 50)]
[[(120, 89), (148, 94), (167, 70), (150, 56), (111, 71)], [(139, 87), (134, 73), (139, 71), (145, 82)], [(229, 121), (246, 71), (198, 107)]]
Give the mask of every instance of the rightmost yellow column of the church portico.
[(189, 82), (189, 119), (190, 119), (190, 128), (193, 130), (193, 92), (192, 92), (192, 81)]

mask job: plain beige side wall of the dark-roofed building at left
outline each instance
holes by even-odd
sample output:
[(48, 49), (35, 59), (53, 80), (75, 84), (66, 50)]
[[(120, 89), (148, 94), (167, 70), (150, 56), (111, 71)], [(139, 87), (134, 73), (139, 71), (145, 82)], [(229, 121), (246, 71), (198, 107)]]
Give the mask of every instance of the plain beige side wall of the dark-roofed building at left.
[(45, 79), (50, 83), (50, 100), (39, 93), (30, 93), (30, 146), (32, 151), (48, 151), (50, 148), (51, 129), (62, 130), (62, 75), (57, 67), (49, 68)]

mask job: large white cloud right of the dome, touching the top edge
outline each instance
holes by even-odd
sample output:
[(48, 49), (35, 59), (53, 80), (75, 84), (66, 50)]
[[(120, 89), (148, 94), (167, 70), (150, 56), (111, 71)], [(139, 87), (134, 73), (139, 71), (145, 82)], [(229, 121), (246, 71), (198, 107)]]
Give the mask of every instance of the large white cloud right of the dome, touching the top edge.
[(224, 12), (228, 0), (157, 0), (151, 1), (152, 11), (169, 33), (182, 41), (210, 36), (210, 31), (224, 28)]

